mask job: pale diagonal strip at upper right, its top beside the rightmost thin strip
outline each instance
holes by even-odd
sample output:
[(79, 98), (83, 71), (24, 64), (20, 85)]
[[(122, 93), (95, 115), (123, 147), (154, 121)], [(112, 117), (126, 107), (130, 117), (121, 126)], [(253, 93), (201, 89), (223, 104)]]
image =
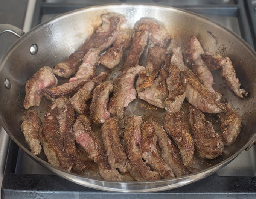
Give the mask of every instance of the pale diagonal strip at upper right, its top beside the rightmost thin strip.
[(199, 81), (211, 93), (213, 93), (217, 96), (218, 99), (220, 99), (221, 95), (219, 93), (216, 93), (215, 90), (212, 88), (212, 73), (208, 69), (206, 63), (204, 63), (203, 59), (201, 58), (201, 54), (204, 54), (204, 50), (195, 36), (191, 36), (190, 41), (187, 43), (185, 54), (187, 62), (190, 64), (192, 71), (195, 73)]

